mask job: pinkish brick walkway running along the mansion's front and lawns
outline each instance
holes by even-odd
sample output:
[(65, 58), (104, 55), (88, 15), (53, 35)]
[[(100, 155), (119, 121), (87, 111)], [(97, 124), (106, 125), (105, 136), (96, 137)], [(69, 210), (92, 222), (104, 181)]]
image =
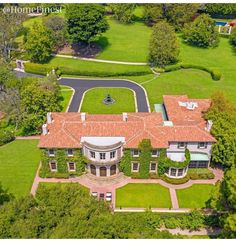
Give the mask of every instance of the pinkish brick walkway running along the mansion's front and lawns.
[[(40, 168), (40, 167), (39, 167)], [(57, 178), (40, 178), (39, 177), (39, 168), (37, 170), (37, 174), (35, 176), (32, 188), (31, 188), (31, 194), (35, 195), (36, 190), (38, 188), (38, 185), (40, 182), (48, 182), (48, 183), (79, 183), (85, 187), (88, 187), (90, 189), (90, 192), (97, 192), (99, 193), (106, 193), (111, 192), (112, 193), (112, 207), (115, 209), (115, 198), (116, 198), (116, 189), (123, 187), (129, 183), (158, 183), (170, 191), (170, 198), (172, 203), (172, 209), (152, 209), (154, 212), (163, 212), (164, 211), (178, 211), (182, 210), (182, 212), (189, 212), (190, 209), (180, 209), (178, 204), (178, 198), (176, 195), (176, 189), (183, 189), (190, 187), (194, 184), (215, 184), (217, 181), (222, 180), (223, 178), (223, 171), (220, 169), (212, 169), (215, 178), (211, 180), (189, 180), (188, 182), (181, 184), (181, 185), (173, 185), (166, 183), (165, 181), (161, 179), (132, 179), (130, 177), (127, 177), (123, 175), (123, 173), (119, 173), (118, 175), (111, 176), (111, 177), (105, 177), (105, 178), (98, 178), (91, 174), (84, 174), (79, 177), (73, 177), (69, 179), (57, 179)], [(145, 211), (146, 209), (136, 209), (136, 208), (127, 208), (127, 209), (116, 209), (116, 212), (124, 210), (127, 212), (134, 212), (134, 211)]]

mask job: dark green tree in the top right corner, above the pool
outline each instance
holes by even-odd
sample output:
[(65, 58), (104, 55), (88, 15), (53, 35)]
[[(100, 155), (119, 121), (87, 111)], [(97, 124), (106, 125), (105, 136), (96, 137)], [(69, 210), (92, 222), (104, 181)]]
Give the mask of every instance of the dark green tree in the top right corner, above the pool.
[(206, 12), (212, 15), (228, 15), (236, 13), (236, 4), (229, 3), (207, 3)]

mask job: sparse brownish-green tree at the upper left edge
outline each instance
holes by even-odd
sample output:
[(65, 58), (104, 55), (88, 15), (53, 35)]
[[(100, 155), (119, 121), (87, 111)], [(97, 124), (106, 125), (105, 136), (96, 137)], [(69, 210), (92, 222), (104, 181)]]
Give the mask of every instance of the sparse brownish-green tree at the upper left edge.
[(25, 19), (25, 14), (4, 13), (2, 9), (0, 11), (0, 54), (4, 62), (11, 61), (11, 50), (16, 47), (15, 40)]

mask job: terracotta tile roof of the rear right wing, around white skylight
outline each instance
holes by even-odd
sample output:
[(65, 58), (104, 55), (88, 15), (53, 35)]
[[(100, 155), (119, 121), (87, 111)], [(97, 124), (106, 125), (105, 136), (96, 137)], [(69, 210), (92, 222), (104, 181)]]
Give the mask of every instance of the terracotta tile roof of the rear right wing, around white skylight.
[[(164, 95), (163, 96), (168, 119), (174, 125), (198, 125), (205, 127), (206, 121), (202, 118), (202, 112), (206, 111), (210, 105), (209, 99), (189, 99), (187, 95)], [(194, 110), (180, 106), (179, 102), (194, 102), (197, 106)]]

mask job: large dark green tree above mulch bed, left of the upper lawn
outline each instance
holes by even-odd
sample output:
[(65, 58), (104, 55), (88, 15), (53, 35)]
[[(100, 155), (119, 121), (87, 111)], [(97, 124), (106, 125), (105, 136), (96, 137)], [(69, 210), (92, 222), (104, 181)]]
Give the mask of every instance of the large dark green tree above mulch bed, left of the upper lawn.
[(65, 17), (73, 43), (83, 41), (90, 45), (109, 27), (105, 8), (99, 4), (68, 4)]

